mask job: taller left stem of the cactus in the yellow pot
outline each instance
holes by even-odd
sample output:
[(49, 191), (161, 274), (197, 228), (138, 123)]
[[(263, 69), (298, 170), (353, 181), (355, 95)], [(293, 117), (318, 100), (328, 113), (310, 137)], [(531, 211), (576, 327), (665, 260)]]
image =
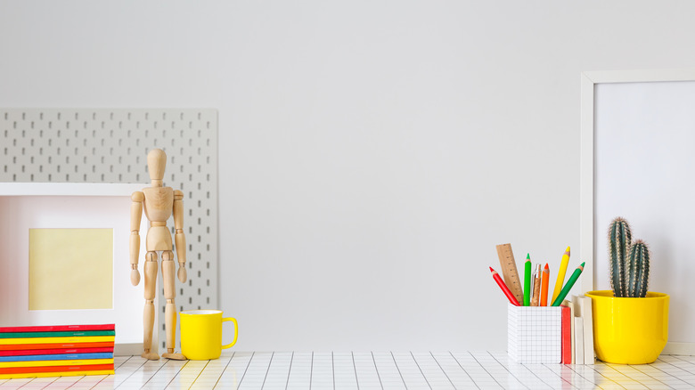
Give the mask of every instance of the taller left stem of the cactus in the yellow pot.
[(621, 217), (617, 217), (609, 227), (609, 265), (610, 288), (615, 297), (626, 297), (626, 266), (627, 254), (632, 242), (630, 225)]

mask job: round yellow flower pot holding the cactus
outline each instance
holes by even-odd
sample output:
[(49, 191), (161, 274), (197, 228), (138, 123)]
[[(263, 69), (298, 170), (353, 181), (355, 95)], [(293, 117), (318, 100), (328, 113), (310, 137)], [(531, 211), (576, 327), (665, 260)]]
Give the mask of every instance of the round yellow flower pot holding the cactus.
[(645, 364), (657, 360), (668, 340), (668, 296), (617, 298), (613, 291), (589, 291), (592, 298), (593, 348), (599, 360)]

